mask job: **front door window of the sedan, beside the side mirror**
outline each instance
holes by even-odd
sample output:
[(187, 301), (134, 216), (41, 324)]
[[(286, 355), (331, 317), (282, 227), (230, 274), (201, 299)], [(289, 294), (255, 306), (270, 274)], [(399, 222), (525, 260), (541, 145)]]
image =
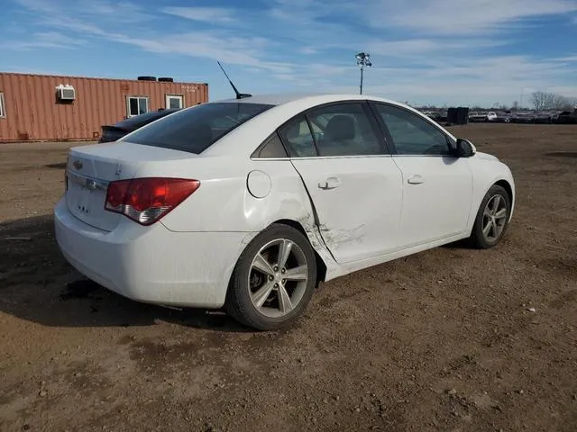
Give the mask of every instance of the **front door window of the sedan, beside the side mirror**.
[(444, 133), (417, 114), (385, 104), (377, 104), (377, 111), (389, 129), (398, 155), (453, 155)]

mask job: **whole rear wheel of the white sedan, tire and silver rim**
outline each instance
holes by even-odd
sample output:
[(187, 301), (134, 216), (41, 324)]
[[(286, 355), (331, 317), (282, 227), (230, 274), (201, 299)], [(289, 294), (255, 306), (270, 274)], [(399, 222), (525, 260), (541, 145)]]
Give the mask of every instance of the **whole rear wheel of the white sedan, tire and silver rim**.
[[(277, 268), (281, 250), (289, 244), (288, 259)], [(224, 309), (253, 329), (286, 328), (307, 309), (315, 286), (316, 256), (308, 238), (298, 229), (273, 224), (253, 238), (239, 257)]]

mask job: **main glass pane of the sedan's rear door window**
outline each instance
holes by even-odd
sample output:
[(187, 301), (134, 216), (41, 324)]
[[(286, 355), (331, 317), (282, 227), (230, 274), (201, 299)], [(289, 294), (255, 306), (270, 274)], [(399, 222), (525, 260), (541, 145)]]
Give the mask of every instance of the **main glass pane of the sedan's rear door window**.
[(384, 153), (362, 103), (323, 106), (307, 113), (319, 156), (365, 156)]

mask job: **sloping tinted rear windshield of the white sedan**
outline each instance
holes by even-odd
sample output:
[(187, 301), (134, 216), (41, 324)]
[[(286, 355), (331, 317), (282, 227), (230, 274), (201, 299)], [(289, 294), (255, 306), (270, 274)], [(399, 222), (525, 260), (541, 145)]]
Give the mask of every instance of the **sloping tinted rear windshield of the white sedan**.
[(198, 154), (244, 121), (272, 106), (261, 103), (204, 103), (155, 121), (121, 140)]

